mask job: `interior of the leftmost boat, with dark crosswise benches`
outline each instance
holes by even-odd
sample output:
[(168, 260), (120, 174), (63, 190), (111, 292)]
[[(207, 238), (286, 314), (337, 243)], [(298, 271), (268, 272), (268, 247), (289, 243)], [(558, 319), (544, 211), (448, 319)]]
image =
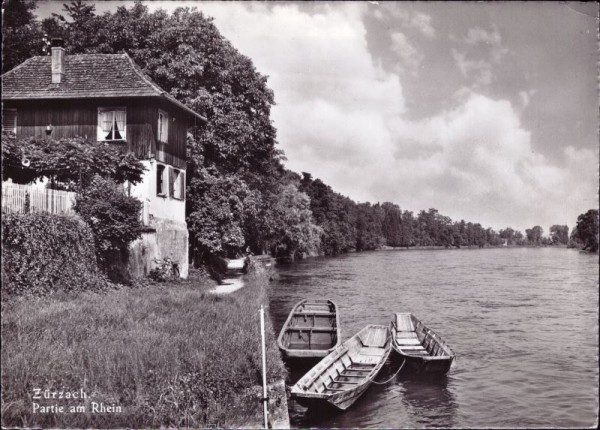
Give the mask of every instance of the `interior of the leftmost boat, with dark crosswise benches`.
[(287, 349), (327, 350), (337, 344), (335, 305), (327, 300), (306, 301), (296, 307), (282, 343)]

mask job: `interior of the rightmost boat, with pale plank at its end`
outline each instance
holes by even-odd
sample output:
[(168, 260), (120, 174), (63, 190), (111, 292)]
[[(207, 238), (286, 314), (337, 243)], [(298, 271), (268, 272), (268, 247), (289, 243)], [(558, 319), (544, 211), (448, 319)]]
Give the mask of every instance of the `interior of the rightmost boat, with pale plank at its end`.
[(444, 341), (410, 313), (397, 313), (392, 321), (395, 343), (402, 353), (414, 357), (454, 355)]

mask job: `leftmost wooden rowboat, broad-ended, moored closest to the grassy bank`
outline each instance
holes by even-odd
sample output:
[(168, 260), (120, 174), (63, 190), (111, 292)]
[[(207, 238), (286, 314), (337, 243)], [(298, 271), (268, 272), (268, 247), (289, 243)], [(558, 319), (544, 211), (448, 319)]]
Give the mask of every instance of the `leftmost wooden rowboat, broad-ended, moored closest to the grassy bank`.
[(331, 300), (301, 300), (290, 312), (277, 345), (285, 358), (322, 358), (341, 343), (340, 317)]

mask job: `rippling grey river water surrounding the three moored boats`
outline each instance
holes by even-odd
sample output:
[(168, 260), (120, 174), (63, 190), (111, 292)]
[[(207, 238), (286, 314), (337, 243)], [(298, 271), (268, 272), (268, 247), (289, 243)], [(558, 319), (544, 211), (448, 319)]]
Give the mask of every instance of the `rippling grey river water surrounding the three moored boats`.
[[(329, 298), (343, 340), (412, 312), (456, 353), (445, 377), (408, 368), (348, 410), (290, 402), (293, 426), (595, 427), (598, 256), (554, 248), (387, 250), (277, 266), (279, 331), (294, 303)], [(398, 369), (389, 360), (377, 380)], [(291, 368), (288, 383), (304, 370)]]

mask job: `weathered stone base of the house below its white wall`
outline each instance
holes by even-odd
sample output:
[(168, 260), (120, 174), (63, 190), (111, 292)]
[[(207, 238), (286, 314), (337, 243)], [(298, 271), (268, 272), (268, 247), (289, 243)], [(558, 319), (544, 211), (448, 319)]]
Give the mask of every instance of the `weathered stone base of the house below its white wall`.
[(166, 257), (179, 265), (182, 278), (188, 276), (188, 230), (187, 225), (165, 219), (153, 219), (153, 231), (142, 233), (142, 237), (129, 247), (128, 270), (131, 276), (147, 276), (156, 267), (155, 259)]

